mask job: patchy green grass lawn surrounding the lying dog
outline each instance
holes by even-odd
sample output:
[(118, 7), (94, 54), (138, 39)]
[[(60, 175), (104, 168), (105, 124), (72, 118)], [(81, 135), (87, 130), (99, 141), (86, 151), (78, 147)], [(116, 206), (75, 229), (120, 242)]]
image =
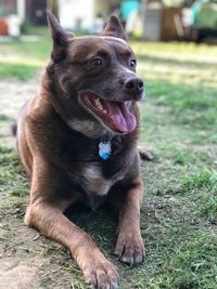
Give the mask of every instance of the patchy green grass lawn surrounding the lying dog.
[[(76, 211), (69, 218), (89, 232), (115, 263), (124, 289), (215, 289), (217, 48), (131, 44), (146, 87), (140, 143), (155, 155), (154, 161), (141, 163), (145, 184), (141, 211), (144, 263), (129, 268), (115, 259), (115, 218), (106, 209), (97, 213)], [(43, 67), (49, 50), (48, 37), (36, 43), (0, 44), (0, 78), (17, 78), (22, 86)], [(0, 109), (3, 111), (3, 107)], [(11, 119), (1, 115), (0, 124), (10, 126)], [(23, 225), (28, 189), (15, 149), (1, 145), (2, 257), (31, 260), (37, 267), (31, 288), (88, 288), (67, 251)]]

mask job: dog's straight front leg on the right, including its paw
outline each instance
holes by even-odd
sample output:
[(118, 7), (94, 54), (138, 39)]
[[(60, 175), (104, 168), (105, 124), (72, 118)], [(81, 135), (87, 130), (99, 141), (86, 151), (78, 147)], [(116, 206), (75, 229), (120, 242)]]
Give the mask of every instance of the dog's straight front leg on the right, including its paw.
[(115, 254), (130, 266), (141, 263), (144, 257), (143, 239), (140, 233), (142, 195), (143, 184), (140, 180), (137, 180), (116, 202), (119, 211)]

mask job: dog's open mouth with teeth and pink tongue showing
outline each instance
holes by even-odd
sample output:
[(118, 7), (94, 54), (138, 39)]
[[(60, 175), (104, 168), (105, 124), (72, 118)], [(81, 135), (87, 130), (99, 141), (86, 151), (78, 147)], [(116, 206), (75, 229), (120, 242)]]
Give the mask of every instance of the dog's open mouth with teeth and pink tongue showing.
[(130, 111), (131, 102), (108, 102), (92, 92), (79, 93), (81, 102), (115, 132), (129, 133), (137, 127), (136, 116)]

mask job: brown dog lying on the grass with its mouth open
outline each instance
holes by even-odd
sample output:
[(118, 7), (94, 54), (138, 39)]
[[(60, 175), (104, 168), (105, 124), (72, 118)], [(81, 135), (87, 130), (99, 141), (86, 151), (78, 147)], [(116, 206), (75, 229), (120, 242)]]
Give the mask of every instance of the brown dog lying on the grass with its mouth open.
[(119, 278), (90, 236), (63, 212), (82, 201), (118, 210), (115, 254), (143, 260), (137, 148), (143, 82), (115, 16), (100, 36), (73, 37), (49, 13), (53, 50), (40, 89), (23, 108), (17, 147), (31, 178), (25, 223), (69, 248), (88, 283), (117, 288)]

